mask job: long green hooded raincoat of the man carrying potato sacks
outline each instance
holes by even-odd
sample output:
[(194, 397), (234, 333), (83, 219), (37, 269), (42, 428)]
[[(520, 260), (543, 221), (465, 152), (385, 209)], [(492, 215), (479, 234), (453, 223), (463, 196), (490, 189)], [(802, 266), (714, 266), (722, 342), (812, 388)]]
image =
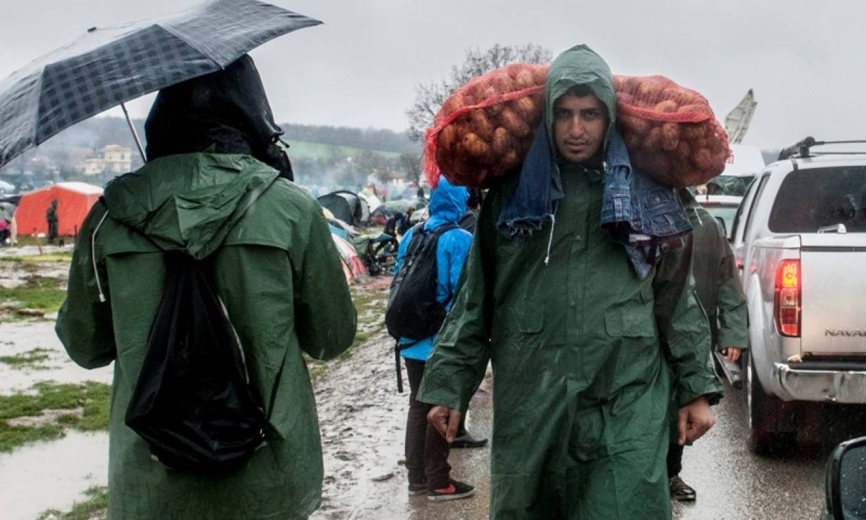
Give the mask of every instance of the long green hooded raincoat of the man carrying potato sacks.
[[(576, 84), (604, 102), (612, 125), (610, 70), (578, 47), (547, 75), (552, 136), (553, 101)], [(493, 362), (491, 518), (667, 518), (671, 393), (683, 406), (721, 392), (688, 251), (638, 279), (599, 227), (602, 172), (560, 170), (553, 235), (549, 222), (526, 243), (495, 229), (513, 183), (484, 201), (418, 399), (465, 412)]]

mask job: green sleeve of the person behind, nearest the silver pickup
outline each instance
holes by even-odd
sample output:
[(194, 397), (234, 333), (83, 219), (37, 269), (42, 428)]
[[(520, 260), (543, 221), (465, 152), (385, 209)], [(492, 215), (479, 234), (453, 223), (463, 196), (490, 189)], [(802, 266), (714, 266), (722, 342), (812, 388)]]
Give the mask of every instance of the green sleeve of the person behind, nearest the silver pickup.
[(737, 276), (734, 264), (734, 251), (727, 240), (722, 237), (721, 247), (725, 255), (721, 259), (719, 270), (719, 296), (717, 309), (719, 312), (719, 345), (718, 348), (746, 348), (748, 346), (748, 335), (746, 320), (746, 296), (740, 287), (740, 276)]

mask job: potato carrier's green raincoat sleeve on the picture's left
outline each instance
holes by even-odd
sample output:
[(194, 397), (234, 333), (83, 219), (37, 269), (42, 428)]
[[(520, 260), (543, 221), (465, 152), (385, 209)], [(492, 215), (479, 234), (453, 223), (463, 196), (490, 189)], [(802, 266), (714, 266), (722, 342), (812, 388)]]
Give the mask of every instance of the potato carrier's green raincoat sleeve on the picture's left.
[[(449, 276), (459, 276), (453, 306), (445, 318), (433, 353), (427, 360), (417, 400), (465, 412), (481, 384), (490, 360), (490, 323), (494, 276), (495, 208), (489, 197), (481, 209), (465, 268), (453, 263)], [(457, 260), (457, 258), (455, 258)]]

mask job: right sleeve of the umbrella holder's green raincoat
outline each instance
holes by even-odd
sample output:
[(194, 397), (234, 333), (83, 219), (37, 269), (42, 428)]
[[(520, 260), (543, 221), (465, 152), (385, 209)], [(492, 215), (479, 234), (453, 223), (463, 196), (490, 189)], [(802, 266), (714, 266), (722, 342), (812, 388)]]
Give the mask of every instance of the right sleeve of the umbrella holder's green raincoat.
[(302, 257), (292, 257), (294, 327), (301, 348), (317, 360), (329, 360), (352, 345), (358, 313), (339, 265), (331, 231), (316, 211)]

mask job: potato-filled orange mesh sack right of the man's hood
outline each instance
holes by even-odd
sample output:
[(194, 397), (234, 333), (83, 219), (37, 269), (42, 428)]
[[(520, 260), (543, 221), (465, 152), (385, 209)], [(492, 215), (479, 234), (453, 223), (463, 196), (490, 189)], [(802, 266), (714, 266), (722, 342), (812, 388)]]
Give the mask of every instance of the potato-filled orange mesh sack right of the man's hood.
[(725, 169), (727, 134), (701, 94), (657, 75), (615, 75), (613, 84), (632, 164), (675, 188), (703, 184)]

